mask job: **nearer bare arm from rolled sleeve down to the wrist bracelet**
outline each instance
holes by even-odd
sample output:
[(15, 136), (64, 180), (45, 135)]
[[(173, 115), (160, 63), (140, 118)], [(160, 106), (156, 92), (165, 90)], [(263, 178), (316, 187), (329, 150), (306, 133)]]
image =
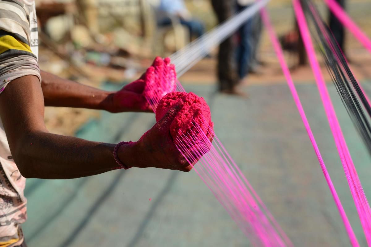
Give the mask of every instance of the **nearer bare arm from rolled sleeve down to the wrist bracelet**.
[[(36, 76), (14, 79), (1, 93), (0, 105), (10, 151), (23, 176), (69, 179), (118, 168), (113, 157), (114, 144), (47, 131), (43, 94)], [(133, 144), (122, 145), (121, 150), (119, 159), (125, 165), (140, 165), (137, 162), (143, 150), (137, 151)]]

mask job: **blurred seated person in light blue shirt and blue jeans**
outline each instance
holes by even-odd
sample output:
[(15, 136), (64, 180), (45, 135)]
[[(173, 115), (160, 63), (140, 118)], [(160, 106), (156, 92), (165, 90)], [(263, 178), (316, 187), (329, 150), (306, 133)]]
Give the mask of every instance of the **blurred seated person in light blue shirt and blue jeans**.
[(173, 21), (179, 21), (180, 24), (188, 28), (190, 41), (193, 37), (198, 38), (205, 33), (204, 23), (192, 17), (183, 0), (161, 0), (158, 12), (160, 13), (160, 18), (157, 21), (158, 26), (168, 26)]

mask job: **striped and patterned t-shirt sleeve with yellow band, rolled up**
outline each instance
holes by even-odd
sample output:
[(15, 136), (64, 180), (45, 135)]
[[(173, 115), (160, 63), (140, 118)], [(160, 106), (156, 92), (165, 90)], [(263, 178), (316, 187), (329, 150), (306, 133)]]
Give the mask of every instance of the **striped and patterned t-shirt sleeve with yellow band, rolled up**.
[(35, 31), (37, 35), (34, 4), (0, 0), (0, 93), (9, 82), (25, 75), (35, 75), (41, 82), (37, 44), (35, 49), (32, 39)]

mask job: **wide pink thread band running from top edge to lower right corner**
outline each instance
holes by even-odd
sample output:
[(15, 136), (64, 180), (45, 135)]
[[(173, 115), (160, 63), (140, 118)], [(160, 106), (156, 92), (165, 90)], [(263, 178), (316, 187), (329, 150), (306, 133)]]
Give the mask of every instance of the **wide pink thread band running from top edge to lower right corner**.
[(341, 163), (344, 168), (345, 176), (348, 181), (349, 189), (351, 191), (368, 246), (370, 246), (371, 244), (370, 205), (368, 204), (361, 182), (359, 181), (359, 177), (357, 175), (357, 171), (355, 169), (354, 163), (349, 153), (347, 143), (345, 142), (344, 135), (341, 131), (338, 119), (336, 117), (331, 98), (328, 94), (325, 80), (322, 76), (321, 68), (319, 67), (318, 61), (316, 59), (315, 51), (311, 41), (311, 36), (309, 35), (308, 26), (306, 24), (305, 16), (302, 7), (299, 3), (299, 0), (293, 0), (293, 6), (296, 14), (296, 19), (298, 21), (299, 30), (303, 37), (303, 42), (308, 54), (309, 62), (311, 64), (313, 74), (316, 79), (316, 84), (321, 95), (321, 100), (325, 108), (326, 116), (328, 118), (329, 126), (332, 135), (334, 136), (335, 145), (338, 150)]

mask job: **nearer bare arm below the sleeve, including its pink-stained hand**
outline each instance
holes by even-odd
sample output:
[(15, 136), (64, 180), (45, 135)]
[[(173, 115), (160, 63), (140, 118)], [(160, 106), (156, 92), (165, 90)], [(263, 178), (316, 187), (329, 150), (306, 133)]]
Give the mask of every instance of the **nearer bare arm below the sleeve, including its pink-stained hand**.
[[(91, 142), (49, 133), (44, 124), (44, 102), (39, 79), (14, 79), (0, 95), (0, 117), (10, 151), (21, 174), (43, 179), (70, 179), (118, 169), (115, 144)], [(175, 152), (168, 122), (174, 109), (138, 142), (120, 146), (118, 157), (127, 166), (188, 171), (190, 165)], [(155, 144), (157, 143), (157, 144)], [(161, 146), (162, 145), (162, 146)]]

